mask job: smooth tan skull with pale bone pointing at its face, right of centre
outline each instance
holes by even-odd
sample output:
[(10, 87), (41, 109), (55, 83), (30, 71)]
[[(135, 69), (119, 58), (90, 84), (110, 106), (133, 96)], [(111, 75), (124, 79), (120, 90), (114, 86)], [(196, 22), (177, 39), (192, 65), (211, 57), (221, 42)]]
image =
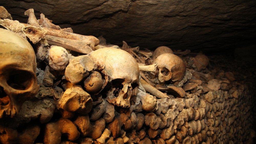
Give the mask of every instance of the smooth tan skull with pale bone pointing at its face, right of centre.
[(158, 64), (158, 79), (162, 83), (169, 80), (180, 81), (186, 73), (184, 61), (172, 53), (161, 54), (155, 59), (155, 63)]

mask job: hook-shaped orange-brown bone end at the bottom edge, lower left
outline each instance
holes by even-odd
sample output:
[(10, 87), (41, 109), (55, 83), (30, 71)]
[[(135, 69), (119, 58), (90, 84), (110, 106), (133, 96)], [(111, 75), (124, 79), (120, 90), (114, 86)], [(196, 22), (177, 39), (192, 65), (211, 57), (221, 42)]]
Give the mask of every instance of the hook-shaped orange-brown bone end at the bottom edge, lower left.
[(67, 139), (74, 141), (79, 138), (80, 133), (72, 121), (60, 118), (56, 122), (51, 122), (45, 126), (44, 143), (58, 144), (61, 142), (61, 135), (68, 134)]

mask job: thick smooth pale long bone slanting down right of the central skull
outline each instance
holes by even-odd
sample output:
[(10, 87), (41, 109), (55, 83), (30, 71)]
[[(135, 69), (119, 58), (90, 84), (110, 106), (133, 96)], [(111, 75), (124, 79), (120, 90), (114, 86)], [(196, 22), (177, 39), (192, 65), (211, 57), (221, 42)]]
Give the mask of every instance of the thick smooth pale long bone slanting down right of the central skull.
[(152, 95), (156, 96), (157, 98), (169, 98), (166, 94), (162, 93), (161, 91), (157, 90), (154, 86), (148, 84), (145, 80), (141, 79), (140, 80), (143, 88)]

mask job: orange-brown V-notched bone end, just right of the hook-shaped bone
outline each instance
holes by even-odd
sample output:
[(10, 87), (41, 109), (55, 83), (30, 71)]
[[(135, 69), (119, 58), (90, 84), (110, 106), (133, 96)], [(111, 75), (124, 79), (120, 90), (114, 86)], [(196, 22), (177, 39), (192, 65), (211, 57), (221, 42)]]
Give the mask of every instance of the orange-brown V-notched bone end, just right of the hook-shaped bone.
[(78, 127), (83, 137), (88, 136), (93, 140), (98, 139), (105, 128), (105, 120), (103, 118), (91, 123), (88, 115), (78, 116), (74, 124)]

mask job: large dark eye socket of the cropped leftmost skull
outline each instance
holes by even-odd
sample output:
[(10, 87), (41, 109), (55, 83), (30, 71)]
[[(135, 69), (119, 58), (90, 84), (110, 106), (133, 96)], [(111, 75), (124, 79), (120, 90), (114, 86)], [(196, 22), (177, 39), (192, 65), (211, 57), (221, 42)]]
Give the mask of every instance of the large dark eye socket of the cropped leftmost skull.
[(27, 90), (33, 83), (33, 75), (24, 70), (9, 71), (7, 84), (16, 90)]

